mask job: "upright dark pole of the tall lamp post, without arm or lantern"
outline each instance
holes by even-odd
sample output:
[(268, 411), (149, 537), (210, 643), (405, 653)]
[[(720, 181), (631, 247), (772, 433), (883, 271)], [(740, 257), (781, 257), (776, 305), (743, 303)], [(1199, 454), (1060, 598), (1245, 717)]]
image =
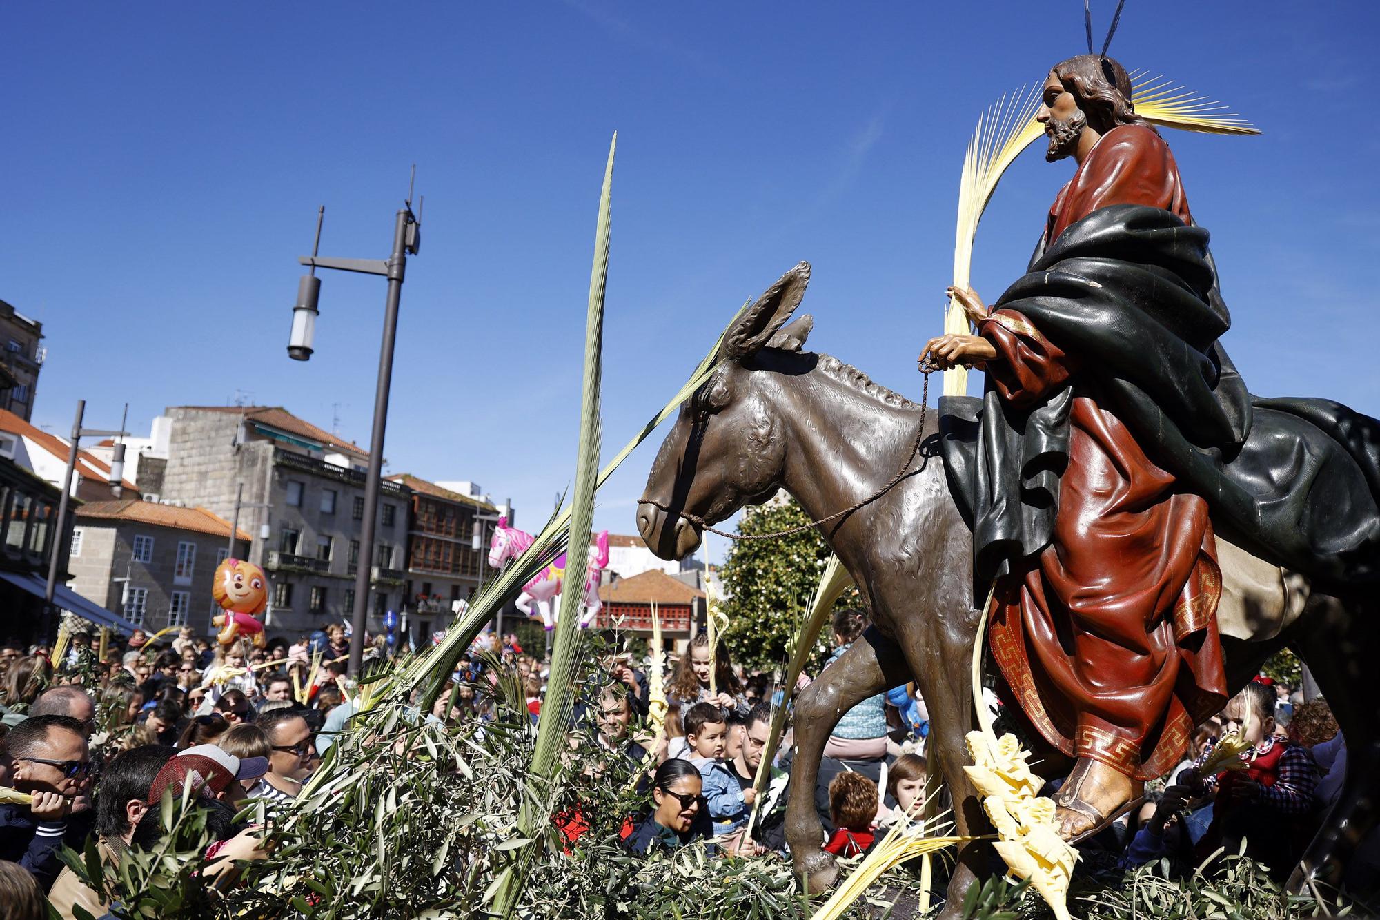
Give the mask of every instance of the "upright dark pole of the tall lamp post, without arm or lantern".
[(407, 221), (411, 211), (397, 210), (393, 225), (393, 256), (388, 260), (388, 303), (384, 308), (384, 341), (378, 355), (378, 390), (374, 392), (374, 430), (368, 442), (368, 472), (364, 477), (364, 519), (355, 572), (355, 612), (351, 620), (349, 670), (359, 674), (364, 663), (364, 630), (368, 624), (368, 576), (378, 535), (378, 490), (384, 474), (384, 430), (388, 427), (388, 390), (393, 380), (393, 341), (397, 337), (397, 301), (407, 271)]

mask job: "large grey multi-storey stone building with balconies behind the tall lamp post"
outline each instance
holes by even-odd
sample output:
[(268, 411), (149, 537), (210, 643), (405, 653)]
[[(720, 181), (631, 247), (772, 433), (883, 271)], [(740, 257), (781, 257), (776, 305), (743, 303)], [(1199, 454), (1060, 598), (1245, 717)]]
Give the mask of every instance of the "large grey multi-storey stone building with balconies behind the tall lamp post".
[[(172, 406), (166, 412), (163, 501), (235, 512), (254, 540), (251, 562), (264, 566), (269, 635), (295, 637), (351, 617), (355, 606), (364, 468), (359, 445), (304, 421), (280, 406)], [(384, 481), (370, 590), (370, 629), (400, 611), (406, 573), (410, 489)], [(264, 535), (268, 535), (266, 537)]]

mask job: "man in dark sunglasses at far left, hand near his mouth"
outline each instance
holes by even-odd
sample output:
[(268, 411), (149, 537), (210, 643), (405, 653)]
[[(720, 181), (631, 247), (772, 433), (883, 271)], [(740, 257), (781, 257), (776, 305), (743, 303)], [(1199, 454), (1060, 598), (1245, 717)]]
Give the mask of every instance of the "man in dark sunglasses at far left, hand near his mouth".
[[(58, 851), (68, 815), (90, 809), (86, 729), (69, 716), (33, 716), (10, 731), (6, 746), (14, 758), (14, 787), (30, 793), (33, 803), (0, 805), (0, 859), (18, 862), (47, 891), (62, 869)], [(79, 850), (81, 844), (72, 841)]]

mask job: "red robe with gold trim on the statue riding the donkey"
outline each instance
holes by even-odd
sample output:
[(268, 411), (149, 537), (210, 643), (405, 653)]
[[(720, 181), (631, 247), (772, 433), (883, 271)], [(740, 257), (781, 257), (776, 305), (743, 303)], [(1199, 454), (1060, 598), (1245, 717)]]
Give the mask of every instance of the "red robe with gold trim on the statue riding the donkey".
[[(1119, 126), (1097, 142), (1054, 199), (1046, 245), (1110, 204), (1191, 221), (1174, 157), (1151, 128)], [(1161, 776), (1227, 698), (1208, 503), (1180, 492), (1079, 377), (1097, 355), (1063, 351), (1010, 309), (978, 332), (996, 348), (987, 373), (1010, 405), (1074, 387), (1053, 540), (996, 584), (992, 656), (1058, 750), (1136, 779)]]

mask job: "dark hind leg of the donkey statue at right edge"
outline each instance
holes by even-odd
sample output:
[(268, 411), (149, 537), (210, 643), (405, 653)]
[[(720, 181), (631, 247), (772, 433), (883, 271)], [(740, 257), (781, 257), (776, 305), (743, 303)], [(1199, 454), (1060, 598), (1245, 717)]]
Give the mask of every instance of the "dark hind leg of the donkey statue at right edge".
[(1292, 891), (1318, 880), (1341, 884), (1357, 845), (1376, 826), (1376, 775), (1380, 772), (1380, 710), (1374, 705), (1370, 669), (1380, 653), (1380, 623), (1370, 602), (1314, 595), (1289, 630), (1310, 663), (1347, 742), (1347, 774), (1337, 800), (1323, 818), (1303, 859), (1289, 879)]

